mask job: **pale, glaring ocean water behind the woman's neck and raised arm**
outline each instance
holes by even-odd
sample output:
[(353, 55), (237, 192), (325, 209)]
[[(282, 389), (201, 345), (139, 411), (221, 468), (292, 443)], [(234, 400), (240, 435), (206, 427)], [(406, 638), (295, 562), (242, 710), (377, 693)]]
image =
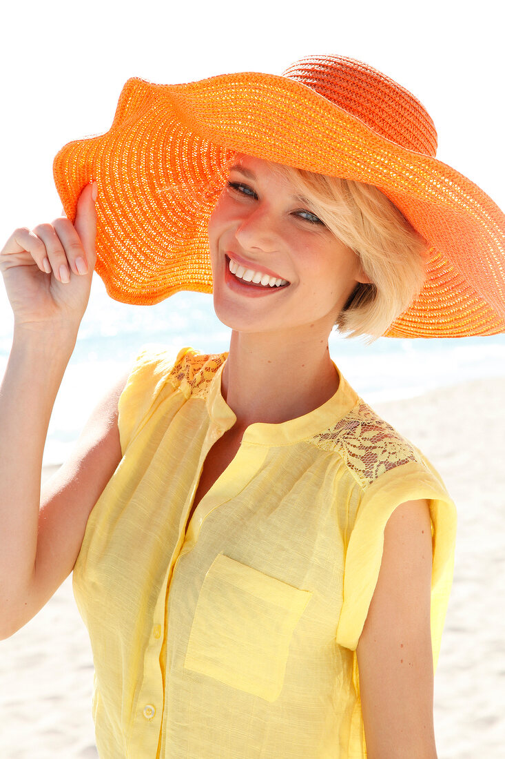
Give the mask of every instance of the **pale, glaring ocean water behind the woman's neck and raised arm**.
[[(155, 306), (127, 306), (108, 298), (95, 277), (77, 345), (56, 399), (44, 463), (66, 458), (103, 393), (127, 373), (146, 344), (202, 353), (227, 351), (231, 331), (212, 308), (212, 295), (177, 293)], [(12, 338), (12, 317), (0, 294), (0, 371)], [(367, 402), (421, 395), (429, 389), (489, 376), (505, 378), (505, 335), (486, 338), (403, 340), (330, 338), (330, 353), (343, 376)]]

